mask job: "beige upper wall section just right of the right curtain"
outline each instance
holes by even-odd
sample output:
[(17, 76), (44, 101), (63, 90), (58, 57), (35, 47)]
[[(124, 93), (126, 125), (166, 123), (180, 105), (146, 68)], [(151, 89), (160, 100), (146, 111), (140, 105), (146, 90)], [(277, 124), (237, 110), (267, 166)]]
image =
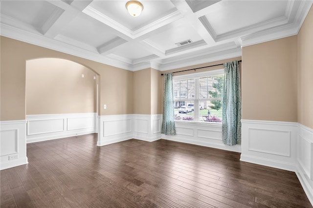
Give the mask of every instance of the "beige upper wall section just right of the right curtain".
[(297, 37), (243, 47), (243, 119), (297, 122)]

